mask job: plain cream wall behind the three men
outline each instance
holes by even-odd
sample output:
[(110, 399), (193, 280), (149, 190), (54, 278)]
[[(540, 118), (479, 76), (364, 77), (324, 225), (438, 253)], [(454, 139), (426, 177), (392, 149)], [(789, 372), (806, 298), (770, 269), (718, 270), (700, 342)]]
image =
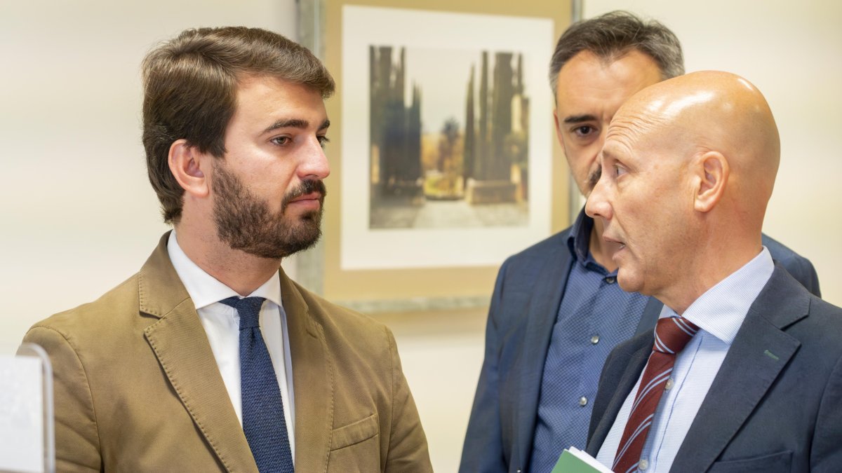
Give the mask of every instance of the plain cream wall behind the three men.
[[(674, 29), (688, 71), (738, 72), (766, 94), (783, 159), (765, 229), (811, 258), (825, 298), (842, 305), (834, 271), (842, 266), (842, 29), (834, 24), (842, 4), (586, 0), (584, 13), (616, 8)], [(166, 229), (145, 178), (138, 64), (155, 41), (216, 24), (294, 37), (295, 3), (0, 3), (0, 353), (12, 353), (38, 319), (134, 273)], [(483, 311), (378, 318), (396, 333), (436, 471), (455, 471), (482, 362)]]

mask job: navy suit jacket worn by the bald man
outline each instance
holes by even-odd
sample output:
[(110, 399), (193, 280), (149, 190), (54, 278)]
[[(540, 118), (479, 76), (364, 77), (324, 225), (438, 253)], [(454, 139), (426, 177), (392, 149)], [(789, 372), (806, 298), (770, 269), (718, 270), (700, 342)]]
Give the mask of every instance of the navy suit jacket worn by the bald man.
[[(610, 353), (589, 429), (596, 456), (653, 333)], [(777, 266), (754, 300), (670, 471), (842, 471), (842, 309)]]

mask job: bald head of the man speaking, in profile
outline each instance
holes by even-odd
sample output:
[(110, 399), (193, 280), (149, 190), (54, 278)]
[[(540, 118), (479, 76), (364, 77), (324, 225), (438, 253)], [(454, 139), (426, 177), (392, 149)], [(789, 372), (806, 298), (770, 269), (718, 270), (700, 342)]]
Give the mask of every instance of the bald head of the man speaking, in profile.
[(780, 155), (769, 104), (743, 77), (695, 72), (629, 98), (585, 207), (621, 245), (622, 289), (678, 311), (754, 258)]

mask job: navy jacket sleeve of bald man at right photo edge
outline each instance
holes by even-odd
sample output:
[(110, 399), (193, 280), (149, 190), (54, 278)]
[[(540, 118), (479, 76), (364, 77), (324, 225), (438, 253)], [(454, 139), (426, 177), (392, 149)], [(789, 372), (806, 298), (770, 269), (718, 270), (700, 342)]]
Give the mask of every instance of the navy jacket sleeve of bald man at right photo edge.
[(842, 471), (842, 359), (836, 362), (818, 408), (810, 471)]

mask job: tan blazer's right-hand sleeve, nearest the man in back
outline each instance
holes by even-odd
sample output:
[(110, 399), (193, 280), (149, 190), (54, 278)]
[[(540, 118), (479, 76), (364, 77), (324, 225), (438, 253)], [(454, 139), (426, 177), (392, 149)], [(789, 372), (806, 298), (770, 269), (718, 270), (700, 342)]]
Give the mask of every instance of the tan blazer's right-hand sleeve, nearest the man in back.
[(385, 330), (389, 341), (389, 352), (392, 355), (392, 430), (384, 471), (386, 473), (432, 472), (427, 437), (424, 435), (424, 428), (421, 427), (421, 418), (418, 417), (418, 408), (415, 407), (407, 379), (403, 376), (395, 337), (388, 329)]

